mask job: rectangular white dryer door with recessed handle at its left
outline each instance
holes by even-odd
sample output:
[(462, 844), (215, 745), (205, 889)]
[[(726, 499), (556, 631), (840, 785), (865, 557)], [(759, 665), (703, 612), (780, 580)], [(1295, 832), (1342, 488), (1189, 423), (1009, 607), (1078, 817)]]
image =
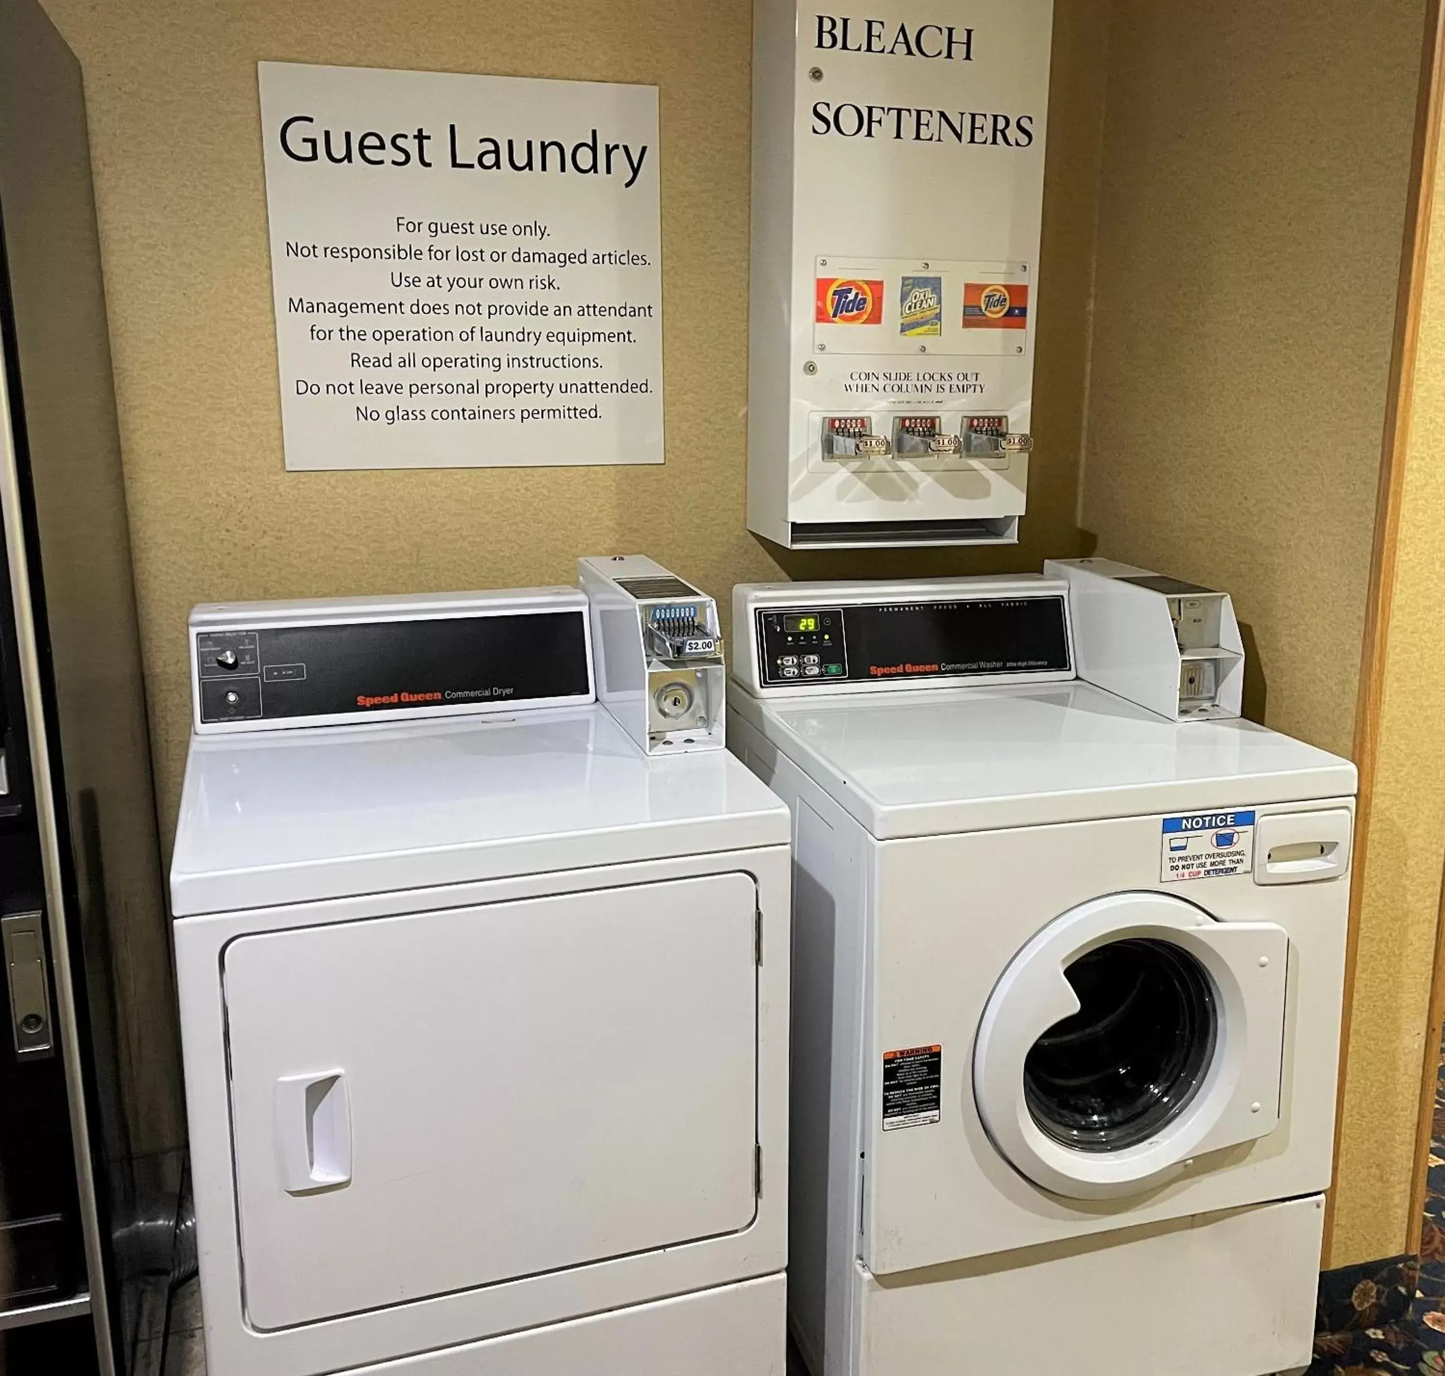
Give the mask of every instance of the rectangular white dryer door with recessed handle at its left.
[(749, 1227), (756, 911), (724, 874), (231, 941), (250, 1324)]

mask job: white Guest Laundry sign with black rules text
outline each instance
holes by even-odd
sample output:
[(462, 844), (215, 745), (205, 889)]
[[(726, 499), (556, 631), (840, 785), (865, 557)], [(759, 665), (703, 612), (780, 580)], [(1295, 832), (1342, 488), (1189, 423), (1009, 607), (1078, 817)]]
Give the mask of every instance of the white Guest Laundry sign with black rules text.
[(662, 462), (655, 87), (259, 78), (288, 468)]

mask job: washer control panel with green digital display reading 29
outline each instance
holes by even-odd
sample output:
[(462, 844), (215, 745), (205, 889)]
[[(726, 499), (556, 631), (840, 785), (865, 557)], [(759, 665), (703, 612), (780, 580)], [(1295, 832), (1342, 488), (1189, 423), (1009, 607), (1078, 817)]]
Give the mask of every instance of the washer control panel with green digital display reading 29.
[(1059, 579), (754, 583), (734, 592), (753, 692), (853, 692), (1074, 677)]

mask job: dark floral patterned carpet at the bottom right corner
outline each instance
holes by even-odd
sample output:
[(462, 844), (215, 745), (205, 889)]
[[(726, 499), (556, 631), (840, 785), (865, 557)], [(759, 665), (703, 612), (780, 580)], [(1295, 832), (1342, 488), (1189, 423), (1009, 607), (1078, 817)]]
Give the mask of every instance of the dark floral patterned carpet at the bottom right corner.
[(1319, 1278), (1309, 1376), (1445, 1376), (1445, 1045), (1435, 1080), (1435, 1141), (1420, 1258)]

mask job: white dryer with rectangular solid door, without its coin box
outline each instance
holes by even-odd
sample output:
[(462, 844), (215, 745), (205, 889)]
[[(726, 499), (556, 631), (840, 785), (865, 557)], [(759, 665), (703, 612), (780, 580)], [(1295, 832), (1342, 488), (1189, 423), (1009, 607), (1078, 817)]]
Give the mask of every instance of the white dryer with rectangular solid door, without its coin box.
[(211, 1376), (782, 1376), (782, 803), (594, 702), (577, 589), (199, 608), (191, 650)]

